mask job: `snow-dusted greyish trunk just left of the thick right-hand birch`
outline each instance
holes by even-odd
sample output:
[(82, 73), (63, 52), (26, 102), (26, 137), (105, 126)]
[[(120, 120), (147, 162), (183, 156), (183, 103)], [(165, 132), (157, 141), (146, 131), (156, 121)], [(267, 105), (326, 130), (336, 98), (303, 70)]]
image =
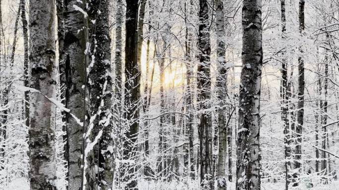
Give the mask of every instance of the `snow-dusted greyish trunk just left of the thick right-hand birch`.
[(226, 68), (226, 47), (225, 47), (225, 24), (224, 24), (224, 4), (222, 0), (214, 1), (216, 7), (216, 28), (217, 28), (217, 59), (218, 59), (218, 128), (219, 128), (219, 153), (217, 167), (218, 190), (226, 190), (226, 168), (227, 168), (227, 68)]

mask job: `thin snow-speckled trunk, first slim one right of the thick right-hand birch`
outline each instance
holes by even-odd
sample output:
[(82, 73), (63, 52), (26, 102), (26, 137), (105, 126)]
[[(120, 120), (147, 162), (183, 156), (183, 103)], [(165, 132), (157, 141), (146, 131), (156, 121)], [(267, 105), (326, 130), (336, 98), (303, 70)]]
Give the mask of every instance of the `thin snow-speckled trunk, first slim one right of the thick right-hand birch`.
[[(285, 7), (285, 0), (281, 0), (281, 20), (282, 20), (282, 40), (286, 40), (286, 7)], [(283, 134), (284, 134), (284, 154), (285, 159), (290, 159), (290, 145), (289, 145), (289, 121), (288, 121), (288, 96), (286, 94), (287, 91), (287, 57), (285, 55), (286, 47), (282, 51), (282, 68), (281, 68), (281, 86), (280, 86), (280, 96), (281, 96), (281, 117), (283, 123)], [(285, 161), (285, 190), (288, 190), (289, 184), (289, 168), (290, 162)]]

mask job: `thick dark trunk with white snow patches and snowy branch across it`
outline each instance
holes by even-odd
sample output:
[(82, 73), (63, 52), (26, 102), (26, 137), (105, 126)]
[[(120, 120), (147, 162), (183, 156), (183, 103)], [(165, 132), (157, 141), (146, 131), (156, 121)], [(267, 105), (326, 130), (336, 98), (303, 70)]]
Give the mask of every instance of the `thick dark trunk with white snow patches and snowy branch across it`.
[[(90, 116), (88, 133), (94, 147), (87, 154), (86, 190), (111, 190), (113, 183), (113, 127), (111, 38), (109, 29), (110, 0), (91, 0), (88, 5), (90, 20), (91, 63), (88, 89)], [(86, 150), (91, 147), (87, 145)]]

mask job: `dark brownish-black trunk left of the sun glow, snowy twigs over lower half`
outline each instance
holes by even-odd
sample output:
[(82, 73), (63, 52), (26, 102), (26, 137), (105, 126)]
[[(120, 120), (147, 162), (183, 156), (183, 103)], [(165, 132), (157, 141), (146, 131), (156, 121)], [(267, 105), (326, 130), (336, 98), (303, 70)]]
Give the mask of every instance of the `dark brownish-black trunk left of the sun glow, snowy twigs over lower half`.
[[(140, 71), (138, 66), (138, 0), (126, 0), (126, 44), (125, 44), (125, 102), (124, 118), (128, 121), (124, 139), (124, 159), (135, 160), (136, 141), (139, 132)], [(137, 190), (135, 167), (127, 162), (125, 189)]]

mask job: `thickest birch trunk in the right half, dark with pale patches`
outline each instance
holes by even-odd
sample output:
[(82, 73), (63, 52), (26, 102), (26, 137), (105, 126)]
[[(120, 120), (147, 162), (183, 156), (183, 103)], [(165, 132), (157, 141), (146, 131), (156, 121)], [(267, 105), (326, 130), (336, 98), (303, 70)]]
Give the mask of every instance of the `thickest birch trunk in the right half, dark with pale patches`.
[(261, 0), (242, 1), (236, 190), (260, 190), (260, 85), (263, 64)]

